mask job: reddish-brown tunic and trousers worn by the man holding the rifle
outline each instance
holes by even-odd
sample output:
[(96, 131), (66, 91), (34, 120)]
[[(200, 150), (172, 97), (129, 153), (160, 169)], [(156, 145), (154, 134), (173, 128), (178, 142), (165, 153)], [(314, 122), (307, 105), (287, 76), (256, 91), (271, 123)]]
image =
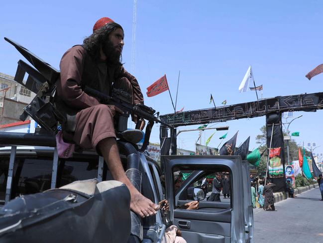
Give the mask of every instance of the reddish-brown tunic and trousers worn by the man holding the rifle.
[[(57, 81), (57, 106), (70, 115), (76, 114), (73, 141), (84, 149), (96, 148), (104, 138), (115, 137), (113, 118), (107, 105), (83, 92), (85, 65), (89, 58), (82, 46), (70, 48), (60, 62), (60, 80)], [(98, 90), (110, 94), (111, 86), (123, 88), (132, 94), (134, 103), (143, 103), (143, 95), (134, 76), (123, 66), (95, 63)], [(92, 67), (91, 67), (92, 68)]]

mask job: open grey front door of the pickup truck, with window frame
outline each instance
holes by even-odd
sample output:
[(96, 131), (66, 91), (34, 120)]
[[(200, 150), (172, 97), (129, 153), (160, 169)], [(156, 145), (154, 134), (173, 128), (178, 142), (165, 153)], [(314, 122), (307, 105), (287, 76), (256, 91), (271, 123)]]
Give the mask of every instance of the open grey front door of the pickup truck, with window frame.
[[(164, 162), (170, 220), (181, 230), (188, 243), (248, 242), (244, 197), (250, 198), (250, 194), (244, 191), (249, 184), (246, 187), (243, 185), (248, 180), (243, 180), (245, 169), (241, 157), (164, 156)], [(229, 178), (229, 199), (224, 199), (222, 195), (213, 197), (215, 175)], [(206, 191), (199, 187), (205, 178), (209, 182)], [(199, 207), (190, 209), (188, 204), (196, 200)], [(252, 234), (250, 230), (249, 234)]]

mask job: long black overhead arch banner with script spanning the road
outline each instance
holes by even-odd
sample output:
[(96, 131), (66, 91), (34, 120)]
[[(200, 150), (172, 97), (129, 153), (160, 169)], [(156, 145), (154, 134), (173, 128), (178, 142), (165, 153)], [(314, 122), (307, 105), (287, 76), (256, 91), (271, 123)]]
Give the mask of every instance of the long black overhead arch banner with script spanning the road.
[(183, 111), (175, 115), (174, 113), (162, 115), (160, 119), (167, 124), (174, 124), (175, 127), (178, 127), (253, 118), (273, 112), (316, 111), (320, 109), (323, 109), (323, 92), (278, 96), (229, 106)]

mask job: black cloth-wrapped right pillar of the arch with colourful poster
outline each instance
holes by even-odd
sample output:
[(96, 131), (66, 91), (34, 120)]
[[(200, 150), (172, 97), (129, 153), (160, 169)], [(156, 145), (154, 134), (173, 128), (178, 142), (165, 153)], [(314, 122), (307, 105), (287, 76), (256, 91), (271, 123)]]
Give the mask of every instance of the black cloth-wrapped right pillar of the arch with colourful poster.
[(276, 184), (274, 192), (286, 191), (284, 135), (281, 120), (281, 113), (266, 115), (267, 148), (271, 148), (268, 153), (268, 175), (272, 183)]

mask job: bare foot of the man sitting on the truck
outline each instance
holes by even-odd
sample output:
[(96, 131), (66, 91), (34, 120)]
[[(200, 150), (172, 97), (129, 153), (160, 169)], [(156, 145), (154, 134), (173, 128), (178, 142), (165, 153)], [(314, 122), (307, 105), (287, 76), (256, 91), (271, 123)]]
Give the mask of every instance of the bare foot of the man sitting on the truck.
[(138, 191), (131, 193), (130, 209), (141, 218), (153, 216), (160, 209), (159, 205), (154, 204), (148, 198), (145, 198)]

